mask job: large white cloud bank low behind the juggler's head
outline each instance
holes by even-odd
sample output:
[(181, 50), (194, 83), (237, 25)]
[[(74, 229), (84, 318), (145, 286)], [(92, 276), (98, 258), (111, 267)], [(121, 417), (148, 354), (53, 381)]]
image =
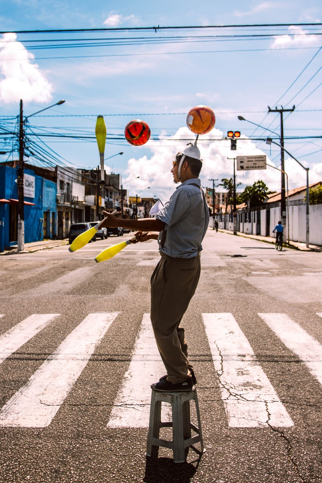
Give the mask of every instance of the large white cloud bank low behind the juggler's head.
[[(223, 132), (220, 129), (214, 128), (209, 137), (222, 137)], [(124, 176), (127, 178), (134, 178), (135, 176), (140, 176), (138, 180), (133, 180), (129, 183), (129, 189), (133, 193), (140, 191), (142, 188), (150, 186), (150, 189), (144, 193), (150, 193), (151, 196), (160, 196), (162, 202), (169, 199), (171, 194), (176, 189), (176, 185), (173, 183), (173, 177), (171, 174), (172, 168), (172, 157), (176, 155), (179, 151), (183, 151), (186, 147), (187, 141), (170, 141), (171, 139), (192, 139), (193, 135), (191, 131), (184, 127), (179, 128), (174, 134), (174, 136), (160, 137), (160, 141), (149, 141), (146, 147), (151, 150), (151, 156), (142, 156), (138, 158), (131, 158), (128, 161), (127, 169), (125, 170)], [(208, 136), (206, 136), (208, 137)], [(263, 155), (265, 154), (261, 149), (255, 146), (255, 143), (247, 138), (243, 138), (243, 141), (237, 141), (237, 151), (230, 150), (230, 140), (227, 141), (209, 141), (203, 142), (202, 136), (199, 141), (199, 148), (201, 156), (204, 159), (203, 169), (201, 171), (201, 181), (203, 186), (209, 186), (210, 178), (230, 178), (233, 175), (233, 161), (227, 159), (233, 156), (245, 156), (245, 155)], [(137, 148), (139, 153), (140, 148)], [(267, 157), (267, 162), (269, 158)], [(291, 161), (292, 162), (292, 161)], [(295, 162), (294, 162), (295, 163)], [(274, 164), (274, 163), (271, 163)], [(295, 163), (296, 164), (296, 163)], [(278, 167), (278, 166), (277, 166)], [(300, 168), (300, 167), (299, 167)], [(305, 172), (300, 168), (300, 171), (294, 172), (294, 166), (290, 166), (290, 188), (298, 186), (299, 180), (304, 179), (305, 184)], [(322, 163), (320, 170), (322, 172)], [(311, 173), (311, 170), (310, 170)], [(257, 180), (263, 180), (264, 183), (269, 187), (270, 190), (280, 189), (280, 172), (274, 170), (273, 168), (268, 168), (266, 170), (258, 171), (237, 171), (237, 182), (241, 182), (243, 185), (252, 185)], [(303, 174), (303, 176), (302, 176)], [(312, 182), (315, 180), (313, 173), (310, 174)], [(320, 174), (321, 178), (321, 174)], [(220, 181), (219, 181), (220, 182)], [(302, 181), (300, 181), (301, 183)], [(311, 181), (310, 181), (311, 182)], [(241, 186), (239, 189), (243, 189)]]

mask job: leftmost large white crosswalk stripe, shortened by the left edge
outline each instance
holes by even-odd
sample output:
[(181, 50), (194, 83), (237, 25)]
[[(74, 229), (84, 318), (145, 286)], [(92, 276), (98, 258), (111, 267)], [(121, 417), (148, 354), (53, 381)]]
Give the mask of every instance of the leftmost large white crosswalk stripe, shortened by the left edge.
[(0, 336), (0, 364), (59, 315), (59, 313), (34, 313), (2, 334)]

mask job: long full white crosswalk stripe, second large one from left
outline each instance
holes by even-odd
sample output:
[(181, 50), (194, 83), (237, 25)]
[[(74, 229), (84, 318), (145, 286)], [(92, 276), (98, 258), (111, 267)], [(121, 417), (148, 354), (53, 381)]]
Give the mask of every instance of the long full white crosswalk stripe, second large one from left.
[(0, 426), (48, 426), (116, 316), (88, 314), (3, 406)]

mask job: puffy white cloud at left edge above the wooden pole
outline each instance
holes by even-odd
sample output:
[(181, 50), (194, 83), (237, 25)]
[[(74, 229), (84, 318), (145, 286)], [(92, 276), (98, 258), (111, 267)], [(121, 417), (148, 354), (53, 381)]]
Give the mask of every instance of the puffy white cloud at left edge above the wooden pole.
[(5, 33), (0, 39), (0, 101), (48, 102), (53, 87), (38, 65), (31, 63), (34, 56), (16, 38), (15, 33)]

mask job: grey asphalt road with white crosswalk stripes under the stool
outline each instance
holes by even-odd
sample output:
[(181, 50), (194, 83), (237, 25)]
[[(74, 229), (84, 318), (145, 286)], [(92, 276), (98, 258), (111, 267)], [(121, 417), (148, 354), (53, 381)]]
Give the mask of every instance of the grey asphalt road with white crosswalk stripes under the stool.
[(146, 458), (157, 242), (93, 260), (126, 237), (0, 257), (0, 481), (321, 482), (322, 255), (208, 230), (183, 319), (206, 453), (174, 464)]

